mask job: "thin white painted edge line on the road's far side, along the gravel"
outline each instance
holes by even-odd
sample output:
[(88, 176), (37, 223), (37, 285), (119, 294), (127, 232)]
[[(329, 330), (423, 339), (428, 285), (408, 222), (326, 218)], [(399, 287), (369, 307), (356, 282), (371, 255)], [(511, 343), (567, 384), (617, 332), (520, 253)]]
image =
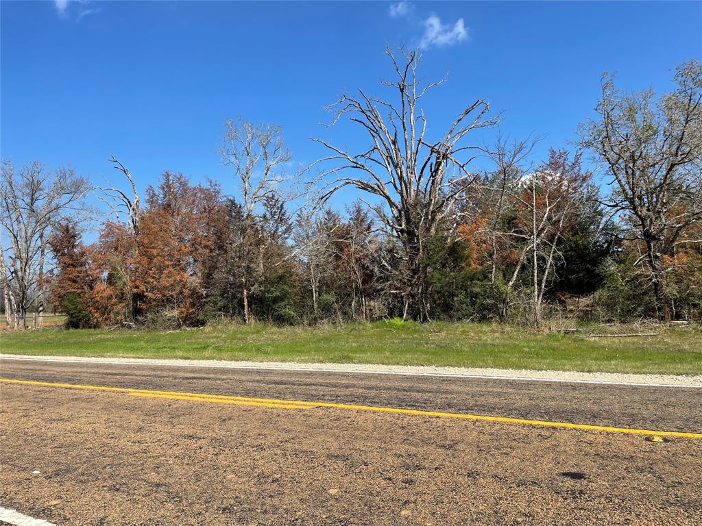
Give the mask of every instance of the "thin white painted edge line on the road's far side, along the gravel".
[(643, 387), (678, 387), (681, 389), (702, 389), (702, 385), (690, 384), (653, 384), (647, 382), (614, 382), (607, 380), (578, 380), (567, 378), (532, 378), (518, 376), (500, 376), (500, 375), (459, 375), (444, 372), (404, 372), (404, 371), (373, 371), (373, 370), (358, 370), (358, 369), (324, 369), (322, 367), (282, 367), (282, 366), (266, 366), (261, 365), (236, 365), (236, 364), (217, 364), (217, 363), (160, 363), (150, 360), (81, 360), (79, 358), (49, 358), (49, 357), (18, 357), (5, 356), (0, 354), (0, 360), (19, 360), (19, 361), (35, 361), (35, 362), (53, 362), (53, 363), (84, 363), (84, 364), (107, 364), (107, 365), (150, 365), (152, 367), (204, 367), (212, 369), (252, 369), (252, 370), (269, 370), (269, 371), (298, 371), (298, 372), (340, 372), (351, 373), (355, 375), (395, 375), (395, 376), (426, 376), (426, 377), (442, 377), (442, 378), (474, 378), (486, 380), (515, 380), (519, 382), (559, 382), (564, 384), (600, 384), (600, 385), (623, 385), (623, 386), (643, 386)]

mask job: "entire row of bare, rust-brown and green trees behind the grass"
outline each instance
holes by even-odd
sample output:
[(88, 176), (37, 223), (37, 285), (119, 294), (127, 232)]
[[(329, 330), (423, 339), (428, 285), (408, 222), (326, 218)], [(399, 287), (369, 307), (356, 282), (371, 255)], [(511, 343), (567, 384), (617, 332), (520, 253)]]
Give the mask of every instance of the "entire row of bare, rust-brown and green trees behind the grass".
[[(366, 147), (314, 139), (329, 153), (299, 170), (279, 126), (225, 121), (231, 196), (170, 171), (140, 196), (114, 157), (128, 191), (94, 188), (70, 168), (4, 161), (8, 328), (25, 328), (30, 311), (41, 325), (48, 306), (70, 327), (700, 319), (699, 62), (677, 67), (675, 87), (658, 96), (603, 76), (572, 148), (539, 160), (539, 138), (481, 142), (479, 130), (501, 117), (483, 99), (437, 134), (421, 102), (445, 79), (421, 83), (416, 52), (387, 54), (386, 97), (361, 89), (333, 106), (334, 121), (357, 126)], [(478, 158), (486, 168), (474, 168)], [(359, 198), (330, 208), (346, 187)], [(110, 215), (86, 244), (91, 191)]]

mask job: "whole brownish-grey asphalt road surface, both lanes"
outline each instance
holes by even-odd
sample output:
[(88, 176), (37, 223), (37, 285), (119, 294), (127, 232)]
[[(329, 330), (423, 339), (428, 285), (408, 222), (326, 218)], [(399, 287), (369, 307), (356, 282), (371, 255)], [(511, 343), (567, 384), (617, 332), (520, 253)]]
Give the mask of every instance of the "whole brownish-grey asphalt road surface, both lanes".
[(701, 389), (22, 360), (0, 377), (198, 393), (0, 383), (0, 506), (59, 525), (702, 522), (699, 438), (212, 397), (702, 433)]

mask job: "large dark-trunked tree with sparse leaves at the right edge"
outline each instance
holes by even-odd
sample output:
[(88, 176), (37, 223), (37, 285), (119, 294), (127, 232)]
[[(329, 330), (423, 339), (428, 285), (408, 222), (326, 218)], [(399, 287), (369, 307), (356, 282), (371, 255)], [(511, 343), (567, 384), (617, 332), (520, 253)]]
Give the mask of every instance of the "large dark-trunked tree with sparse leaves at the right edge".
[(677, 87), (654, 100), (653, 90), (627, 93), (602, 79), (597, 116), (581, 127), (581, 144), (604, 161), (614, 186), (607, 203), (634, 225), (644, 245), (638, 263), (647, 269), (658, 316), (670, 319), (665, 256), (702, 220), (702, 65), (685, 62)]

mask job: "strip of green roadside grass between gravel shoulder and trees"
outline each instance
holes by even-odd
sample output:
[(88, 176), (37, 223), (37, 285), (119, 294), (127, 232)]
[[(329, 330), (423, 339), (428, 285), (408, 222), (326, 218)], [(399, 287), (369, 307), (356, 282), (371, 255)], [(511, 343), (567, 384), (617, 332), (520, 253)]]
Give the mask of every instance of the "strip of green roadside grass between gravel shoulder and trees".
[(221, 325), (178, 332), (4, 332), (3, 353), (455, 365), (508, 369), (702, 375), (700, 328), (657, 328), (657, 337), (585, 339), (505, 325), (380, 321), (343, 327)]

